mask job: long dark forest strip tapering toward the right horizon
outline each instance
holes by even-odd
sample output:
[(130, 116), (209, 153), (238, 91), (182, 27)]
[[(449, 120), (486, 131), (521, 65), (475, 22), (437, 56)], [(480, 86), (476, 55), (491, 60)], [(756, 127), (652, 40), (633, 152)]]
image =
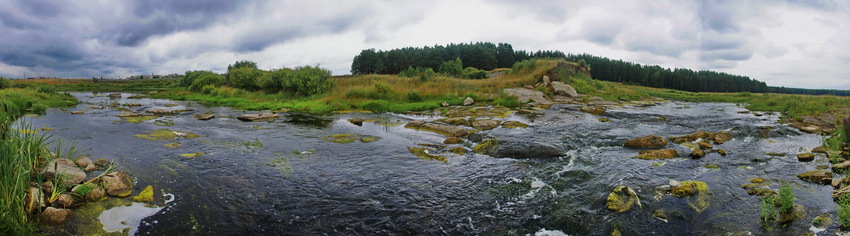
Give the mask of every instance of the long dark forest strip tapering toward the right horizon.
[(671, 70), (589, 54), (569, 54), (566, 59), (586, 61), (593, 66), (591, 75), (598, 80), (691, 92), (770, 92), (762, 81), (722, 72), (683, 68)]

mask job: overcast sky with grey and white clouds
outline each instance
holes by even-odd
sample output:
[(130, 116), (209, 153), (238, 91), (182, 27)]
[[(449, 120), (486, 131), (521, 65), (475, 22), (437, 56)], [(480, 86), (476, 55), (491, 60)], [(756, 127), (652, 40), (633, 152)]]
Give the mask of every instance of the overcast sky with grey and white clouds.
[(754, 1), (0, 1), (0, 76), (321, 65), (360, 50), (505, 42), (770, 86), (850, 89), (850, 4)]

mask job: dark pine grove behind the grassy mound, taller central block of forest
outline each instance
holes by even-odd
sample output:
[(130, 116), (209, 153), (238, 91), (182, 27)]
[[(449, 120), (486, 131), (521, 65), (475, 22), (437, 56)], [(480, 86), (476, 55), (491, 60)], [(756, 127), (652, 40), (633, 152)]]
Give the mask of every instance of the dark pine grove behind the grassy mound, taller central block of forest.
[(439, 71), (444, 62), (460, 59), (464, 68), (493, 70), (510, 68), (514, 63), (530, 58), (564, 58), (560, 51), (537, 51), (529, 53), (514, 50), (507, 43), (461, 43), (433, 47), (406, 47), (381, 51), (365, 49), (354, 57), (351, 73), (360, 74), (399, 74), (409, 68), (430, 68)]

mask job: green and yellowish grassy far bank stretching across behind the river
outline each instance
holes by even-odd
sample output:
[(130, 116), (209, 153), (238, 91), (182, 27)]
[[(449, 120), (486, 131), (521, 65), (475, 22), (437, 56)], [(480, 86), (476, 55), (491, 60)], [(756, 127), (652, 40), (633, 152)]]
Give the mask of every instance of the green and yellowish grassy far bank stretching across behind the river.
[[(294, 109), (325, 113), (338, 110), (368, 110), (373, 112), (406, 112), (434, 109), (442, 102), (459, 105), (471, 97), (479, 103), (515, 107), (516, 99), (502, 93), (504, 88), (522, 87), (539, 82), (544, 74), (565, 63), (559, 60), (518, 62), (510, 73), (489, 79), (457, 79), (437, 76), (428, 79), (404, 78), (396, 75), (359, 75), (333, 77), (333, 88), (323, 94), (295, 97), (286, 93), (246, 91), (216, 87), (190, 92), (177, 87), (175, 80), (60, 80), (36, 79), (13, 81), (16, 87), (43, 87), (47, 84), (62, 91), (159, 91), (151, 96), (175, 100), (192, 100), (207, 105), (228, 106), (244, 110)], [(567, 64), (574, 64), (566, 62)], [(504, 68), (499, 70), (506, 70)], [(551, 73), (549, 73), (551, 74)], [(557, 73), (556, 73), (557, 74)], [(558, 77), (558, 76), (556, 76)], [(576, 75), (563, 80), (579, 93), (602, 97), (610, 101), (663, 98), (691, 102), (729, 102), (746, 104), (753, 111), (780, 112), (786, 118), (816, 115), (833, 108), (848, 107), (850, 98), (753, 93), (695, 93), (672, 89), (649, 88), (590, 79)]]

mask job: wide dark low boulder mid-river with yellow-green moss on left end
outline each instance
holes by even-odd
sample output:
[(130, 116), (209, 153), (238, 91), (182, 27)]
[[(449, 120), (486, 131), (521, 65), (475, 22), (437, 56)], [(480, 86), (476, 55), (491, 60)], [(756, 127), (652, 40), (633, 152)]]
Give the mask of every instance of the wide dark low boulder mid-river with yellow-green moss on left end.
[(486, 139), (473, 148), (478, 154), (496, 158), (548, 158), (563, 156), (564, 152), (553, 145), (514, 139)]

